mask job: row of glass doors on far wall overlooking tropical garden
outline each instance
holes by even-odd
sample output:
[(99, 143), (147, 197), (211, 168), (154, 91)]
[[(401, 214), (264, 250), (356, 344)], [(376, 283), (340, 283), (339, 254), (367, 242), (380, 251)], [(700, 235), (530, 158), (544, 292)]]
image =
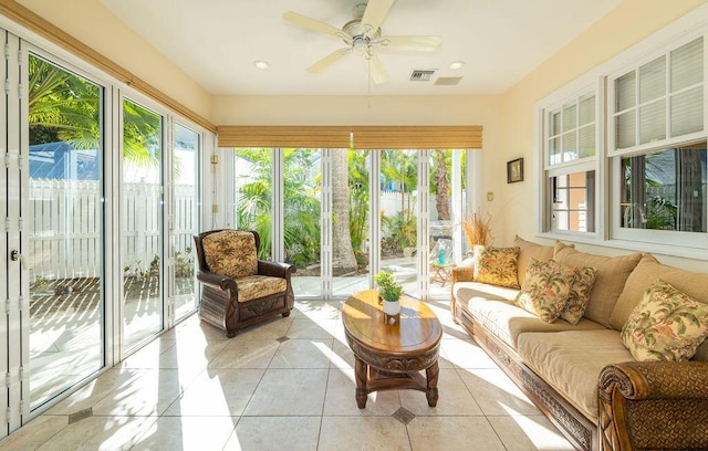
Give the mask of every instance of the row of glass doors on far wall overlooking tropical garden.
[(259, 231), (262, 258), (298, 266), (296, 297), (346, 297), (379, 270), (410, 295), (448, 297), (461, 260), (465, 155), (236, 148), (235, 223)]

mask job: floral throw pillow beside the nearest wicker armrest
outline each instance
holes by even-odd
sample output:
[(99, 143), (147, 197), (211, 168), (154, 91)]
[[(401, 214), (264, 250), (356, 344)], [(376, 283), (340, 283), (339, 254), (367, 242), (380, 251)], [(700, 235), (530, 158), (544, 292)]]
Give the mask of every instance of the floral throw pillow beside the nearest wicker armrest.
[(658, 279), (622, 328), (635, 359), (688, 360), (708, 336), (708, 304), (694, 301)]

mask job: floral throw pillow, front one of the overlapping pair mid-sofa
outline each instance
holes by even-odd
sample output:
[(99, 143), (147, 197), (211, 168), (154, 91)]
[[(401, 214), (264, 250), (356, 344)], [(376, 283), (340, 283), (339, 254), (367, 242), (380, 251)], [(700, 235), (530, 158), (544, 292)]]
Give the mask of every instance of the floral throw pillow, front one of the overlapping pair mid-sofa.
[(565, 307), (576, 270), (555, 260), (532, 260), (516, 304), (546, 323), (553, 323)]

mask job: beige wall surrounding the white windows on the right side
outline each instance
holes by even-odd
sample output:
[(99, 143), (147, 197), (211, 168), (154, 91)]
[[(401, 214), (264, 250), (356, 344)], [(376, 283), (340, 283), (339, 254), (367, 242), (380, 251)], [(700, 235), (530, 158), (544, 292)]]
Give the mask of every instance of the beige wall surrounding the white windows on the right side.
[[(500, 106), (501, 148), (485, 153), (485, 190), (496, 191), (496, 200), (488, 202), (488, 207), (494, 217), (498, 244), (511, 243), (514, 233), (542, 241), (534, 238), (533, 220), (539, 182), (533, 154), (534, 103), (704, 3), (705, 0), (626, 0), (504, 93)], [(503, 175), (506, 161), (518, 157), (524, 158), (525, 181), (507, 185), (501, 177), (491, 176)], [(626, 252), (591, 245), (579, 248), (603, 254)], [(708, 270), (707, 262), (657, 256), (669, 264)]]

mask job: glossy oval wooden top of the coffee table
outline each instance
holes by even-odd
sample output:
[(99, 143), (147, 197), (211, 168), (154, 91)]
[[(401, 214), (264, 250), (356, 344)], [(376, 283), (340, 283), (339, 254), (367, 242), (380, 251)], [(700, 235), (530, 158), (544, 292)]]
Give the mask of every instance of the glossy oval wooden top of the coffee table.
[(352, 339), (387, 354), (419, 354), (438, 346), (442, 337), (442, 326), (435, 313), (407, 295), (400, 297), (399, 321), (384, 324), (384, 310), (375, 290), (351, 295), (344, 302), (342, 321)]

